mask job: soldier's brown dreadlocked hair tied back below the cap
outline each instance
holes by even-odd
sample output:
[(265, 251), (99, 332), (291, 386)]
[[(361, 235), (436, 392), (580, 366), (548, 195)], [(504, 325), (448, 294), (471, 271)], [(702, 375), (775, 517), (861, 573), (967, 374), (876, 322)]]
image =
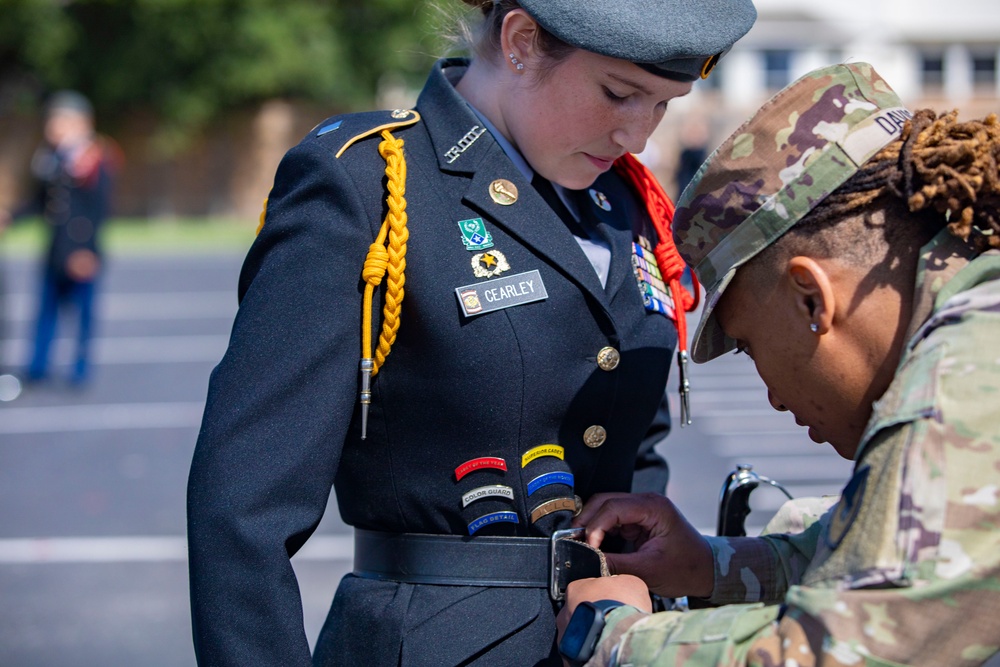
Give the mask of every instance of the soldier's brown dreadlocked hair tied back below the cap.
[[(866, 162), (806, 219), (814, 230), (863, 212), (885, 198), (906, 203), (910, 213), (933, 217), (955, 236), (980, 247), (1000, 247), (1000, 121), (958, 121), (917, 111), (900, 138)], [(889, 202), (886, 202), (889, 205)], [(933, 213), (936, 212), (936, 215)], [(801, 223), (800, 223), (801, 224)]]

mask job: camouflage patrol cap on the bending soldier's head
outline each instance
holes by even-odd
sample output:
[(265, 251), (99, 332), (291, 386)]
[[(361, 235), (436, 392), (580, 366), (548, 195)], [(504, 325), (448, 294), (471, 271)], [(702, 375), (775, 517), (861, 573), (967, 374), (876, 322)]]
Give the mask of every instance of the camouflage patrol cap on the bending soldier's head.
[(736, 270), (900, 136), (912, 114), (871, 65), (824, 67), (764, 104), (681, 194), (674, 243), (705, 286), (692, 359), (735, 348), (715, 307)]

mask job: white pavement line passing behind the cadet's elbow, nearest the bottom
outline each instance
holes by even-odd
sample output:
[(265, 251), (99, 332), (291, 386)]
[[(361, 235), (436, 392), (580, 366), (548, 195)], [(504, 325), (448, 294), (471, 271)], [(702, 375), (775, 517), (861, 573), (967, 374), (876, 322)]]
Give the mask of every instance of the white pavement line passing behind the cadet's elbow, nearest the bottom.
[[(293, 561), (351, 561), (351, 535), (316, 535)], [(187, 560), (187, 540), (175, 537), (31, 537), (0, 539), (0, 564), (148, 563)]]

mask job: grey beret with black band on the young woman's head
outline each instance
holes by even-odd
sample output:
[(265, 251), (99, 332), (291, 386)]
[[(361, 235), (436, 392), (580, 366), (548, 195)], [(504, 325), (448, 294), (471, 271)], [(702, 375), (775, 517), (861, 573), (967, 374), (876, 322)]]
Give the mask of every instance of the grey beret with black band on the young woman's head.
[(751, 0), (520, 0), (543, 28), (587, 51), (677, 81), (706, 78), (757, 19)]

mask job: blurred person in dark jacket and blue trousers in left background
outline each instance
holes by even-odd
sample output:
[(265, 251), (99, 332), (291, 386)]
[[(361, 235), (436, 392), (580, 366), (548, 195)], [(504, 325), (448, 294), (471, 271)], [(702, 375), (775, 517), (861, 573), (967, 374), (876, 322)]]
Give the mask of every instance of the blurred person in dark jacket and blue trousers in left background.
[(50, 377), (50, 356), (60, 310), (76, 319), (76, 350), (69, 382), (90, 379), (90, 341), (95, 294), (102, 270), (100, 228), (111, 209), (117, 145), (94, 131), (94, 110), (76, 91), (53, 93), (45, 106), (44, 143), (31, 160), (32, 195), (13, 214), (0, 213), (0, 226), (41, 215), (48, 232), (39, 276), (34, 345), (24, 380)]

